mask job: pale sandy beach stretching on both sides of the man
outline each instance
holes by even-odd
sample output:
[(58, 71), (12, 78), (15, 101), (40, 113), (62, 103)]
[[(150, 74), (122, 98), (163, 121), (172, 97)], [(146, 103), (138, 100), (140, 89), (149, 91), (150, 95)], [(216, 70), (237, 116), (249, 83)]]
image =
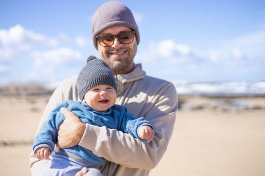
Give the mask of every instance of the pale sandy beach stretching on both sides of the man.
[[(28, 156), (50, 93), (0, 91), (0, 175), (31, 175)], [(265, 175), (264, 97), (179, 102), (170, 145), (151, 176)]]

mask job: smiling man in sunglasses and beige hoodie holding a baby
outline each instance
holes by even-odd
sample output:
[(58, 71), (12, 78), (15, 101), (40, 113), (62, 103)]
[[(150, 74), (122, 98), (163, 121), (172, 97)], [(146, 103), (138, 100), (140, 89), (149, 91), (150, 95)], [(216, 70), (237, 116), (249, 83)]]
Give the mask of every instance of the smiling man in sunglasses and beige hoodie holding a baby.
[[(115, 73), (117, 87), (116, 104), (126, 106), (134, 117), (144, 117), (154, 127), (153, 140), (142, 143), (129, 134), (115, 129), (82, 124), (67, 110), (67, 117), (59, 130), (59, 145), (67, 148), (80, 145), (108, 160), (101, 168), (102, 175), (148, 175), (166, 152), (169, 144), (176, 111), (177, 93), (171, 82), (147, 76), (141, 64), (133, 58), (140, 41), (133, 14), (125, 5), (110, 1), (100, 6), (93, 16), (92, 36), (95, 48)], [(78, 100), (77, 76), (59, 84), (48, 102), (41, 124), (49, 112), (65, 100)], [(37, 161), (30, 156), (33, 175), (38, 175), (47, 165), (47, 160)], [(83, 175), (79, 172), (77, 175)]]

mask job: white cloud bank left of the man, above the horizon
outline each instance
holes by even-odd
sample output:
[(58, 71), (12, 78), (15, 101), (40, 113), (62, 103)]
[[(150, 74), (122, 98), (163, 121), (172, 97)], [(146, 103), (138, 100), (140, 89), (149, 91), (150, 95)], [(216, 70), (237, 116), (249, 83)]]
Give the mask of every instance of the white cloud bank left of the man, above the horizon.
[(82, 35), (71, 38), (59, 32), (52, 38), (21, 25), (0, 29), (0, 84), (22, 79), (61, 81), (85, 64), (87, 49), (74, 48), (92, 47), (88, 43)]

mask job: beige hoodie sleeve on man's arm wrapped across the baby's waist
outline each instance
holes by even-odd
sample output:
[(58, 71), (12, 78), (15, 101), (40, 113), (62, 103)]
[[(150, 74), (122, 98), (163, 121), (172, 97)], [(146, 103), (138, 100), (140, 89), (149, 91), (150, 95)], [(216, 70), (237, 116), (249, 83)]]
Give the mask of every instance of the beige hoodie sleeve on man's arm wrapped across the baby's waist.
[[(153, 89), (152, 86), (147, 88)], [(154, 128), (154, 138), (151, 142), (142, 143), (116, 129), (87, 124), (79, 145), (125, 167), (154, 168), (167, 150), (178, 109), (177, 92), (172, 83), (161, 85), (155, 95), (150, 107), (142, 110), (144, 118), (150, 121)]]

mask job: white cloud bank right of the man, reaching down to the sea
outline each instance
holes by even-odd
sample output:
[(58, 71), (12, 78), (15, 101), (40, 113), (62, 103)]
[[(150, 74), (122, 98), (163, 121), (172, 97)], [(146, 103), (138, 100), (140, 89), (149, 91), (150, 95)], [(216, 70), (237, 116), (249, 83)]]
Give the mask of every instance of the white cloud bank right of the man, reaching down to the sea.
[[(185, 80), (255, 80), (263, 79), (265, 67), (265, 30), (231, 40), (219, 41), (216, 47), (200, 49), (162, 40), (139, 50), (136, 61), (148, 74)], [(138, 59), (138, 60), (137, 60)], [(163, 70), (159, 73), (157, 68)]]

